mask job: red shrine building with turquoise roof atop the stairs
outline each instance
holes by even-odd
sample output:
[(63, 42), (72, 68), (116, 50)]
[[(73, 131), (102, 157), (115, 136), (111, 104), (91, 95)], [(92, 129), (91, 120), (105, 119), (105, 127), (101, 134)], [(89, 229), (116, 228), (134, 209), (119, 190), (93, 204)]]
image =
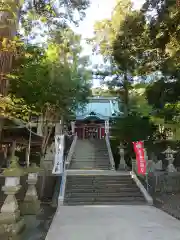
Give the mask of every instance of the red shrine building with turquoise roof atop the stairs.
[(76, 119), (73, 122), (74, 132), (78, 138), (102, 139), (105, 136), (106, 128), (111, 131), (113, 120), (121, 117), (122, 103), (117, 97), (90, 97), (89, 102), (82, 110), (76, 112)]

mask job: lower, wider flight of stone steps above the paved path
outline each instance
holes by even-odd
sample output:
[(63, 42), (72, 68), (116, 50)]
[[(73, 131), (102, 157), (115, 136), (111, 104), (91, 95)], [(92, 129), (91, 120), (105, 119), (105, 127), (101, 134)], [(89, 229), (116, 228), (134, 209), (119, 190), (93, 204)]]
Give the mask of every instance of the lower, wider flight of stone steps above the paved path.
[(64, 205), (141, 205), (144, 196), (127, 175), (68, 175)]

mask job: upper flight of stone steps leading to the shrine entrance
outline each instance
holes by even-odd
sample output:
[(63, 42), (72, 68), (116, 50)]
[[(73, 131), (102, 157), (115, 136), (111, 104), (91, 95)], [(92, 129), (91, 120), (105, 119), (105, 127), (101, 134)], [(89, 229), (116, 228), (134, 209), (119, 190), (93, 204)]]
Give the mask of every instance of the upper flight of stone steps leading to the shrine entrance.
[(105, 140), (77, 140), (69, 169), (111, 169)]

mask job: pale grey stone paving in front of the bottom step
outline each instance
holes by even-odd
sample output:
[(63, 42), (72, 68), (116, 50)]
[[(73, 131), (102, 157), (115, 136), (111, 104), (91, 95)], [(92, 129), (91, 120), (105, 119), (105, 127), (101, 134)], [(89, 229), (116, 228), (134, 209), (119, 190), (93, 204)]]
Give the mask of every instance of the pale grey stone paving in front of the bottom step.
[(60, 206), (46, 240), (179, 240), (179, 221), (152, 206)]

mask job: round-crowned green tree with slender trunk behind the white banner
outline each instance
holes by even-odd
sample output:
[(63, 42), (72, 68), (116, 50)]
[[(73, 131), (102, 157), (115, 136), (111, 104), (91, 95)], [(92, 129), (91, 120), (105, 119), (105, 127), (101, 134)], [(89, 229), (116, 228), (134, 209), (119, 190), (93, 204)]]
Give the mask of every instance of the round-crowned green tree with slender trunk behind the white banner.
[[(90, 94), (89, 75), (85, 65), (79, 67), (80, 38), (66, 29), (70, 38), (51, 42), (48, 48), (27, 45), (19, 68), (11, 76), (11, 93), (23, 98), (28, 106), (43, 116), (45, 153), (54, 122), (72, 114)], [(60, 41), (61, 40), (61, 41)], [(51, 123), (48, 125), (47, 123)]]

